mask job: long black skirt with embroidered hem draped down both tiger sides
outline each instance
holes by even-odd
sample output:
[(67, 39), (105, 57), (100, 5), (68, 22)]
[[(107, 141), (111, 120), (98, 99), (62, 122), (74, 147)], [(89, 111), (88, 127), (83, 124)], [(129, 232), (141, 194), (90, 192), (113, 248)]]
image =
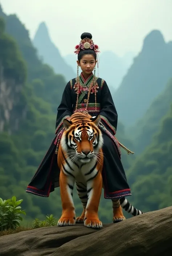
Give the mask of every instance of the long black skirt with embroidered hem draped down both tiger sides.
[[(104, 139), (102, 172), (104, 197), (106, 199), (113, 199), (130, 196), (131, 191), (120, 160), (119, 150), (108, 134), (102, 132), (102, 135)], [(56, 145), (54, 145), (56, 137), (53, 139), (34, 177), (28, 184), (26, 192), (48, 197), (50, 192), (54, 191), (54, 188), (60, 186), (60, 170), (57, 165), (57, 154), (55, 154)]]

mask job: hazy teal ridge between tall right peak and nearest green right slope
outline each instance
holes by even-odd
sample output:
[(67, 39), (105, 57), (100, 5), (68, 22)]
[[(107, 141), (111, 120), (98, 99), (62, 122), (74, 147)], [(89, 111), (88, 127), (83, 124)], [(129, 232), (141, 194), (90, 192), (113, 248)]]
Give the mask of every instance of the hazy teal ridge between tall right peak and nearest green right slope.
[[(165, 89), (148, 107), (144, 117), (130, 127), (128, 137), (134, 143), (134, 151), (137, 155), (152, 142), (153, 135), (158, 131), (160, 119), (167, 113), (172, 103), (172, 78), (169, 79)], [(128, 130), (127, 130), (128, 131)]]

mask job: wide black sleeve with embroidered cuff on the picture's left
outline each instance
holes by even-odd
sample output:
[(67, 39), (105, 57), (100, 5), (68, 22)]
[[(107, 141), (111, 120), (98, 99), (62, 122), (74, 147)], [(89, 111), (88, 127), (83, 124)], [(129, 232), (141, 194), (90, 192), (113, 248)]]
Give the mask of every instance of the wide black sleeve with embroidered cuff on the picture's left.
[(69, 118), (72, 115), (72, 98), (71, 98), (71, 87), (70, 81), (67, 83), (61, 103), (57, 108), (57, 118), (56, 118), (56, 133), (61, 130), (63, 126), (63, 120)]

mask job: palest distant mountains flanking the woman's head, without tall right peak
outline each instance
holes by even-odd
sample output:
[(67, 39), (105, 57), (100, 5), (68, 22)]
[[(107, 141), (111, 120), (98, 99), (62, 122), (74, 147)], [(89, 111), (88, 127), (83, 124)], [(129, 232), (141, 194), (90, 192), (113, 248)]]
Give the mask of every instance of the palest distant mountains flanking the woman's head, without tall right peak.
[[(77, 56), (69, 54), (62, 57), (57, 46), (53, 43), (45, 22), (40, 23), (33, 38), (33, 44), (42, 60), (53, 67), (57, 74), (63, 74), (67, 81), (77, 76)], [(123, 57), (111, 51), (99, 54), (99, 77), (106, 80), (111, 92), (118, 88), (123, 76), (132, 64), (134, 53), (128, 52)], [(81, 71), (81, 70), (80, 70)]]

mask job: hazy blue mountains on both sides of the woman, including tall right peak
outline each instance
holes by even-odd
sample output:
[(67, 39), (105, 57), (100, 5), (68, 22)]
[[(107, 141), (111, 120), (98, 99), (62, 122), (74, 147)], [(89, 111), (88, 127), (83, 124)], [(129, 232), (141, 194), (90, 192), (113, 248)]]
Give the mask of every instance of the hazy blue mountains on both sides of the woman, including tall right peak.
[[(63, 74), (67, 81), (76, 77), (77, 56), (61, 56), (44, 22), (38, 26), (33, 44), (56, 73)], [(120, 121), (126, 127), (133, 126), (172, 76), (172, 42), (166, 43), (163, 34), (154, 30), (144, 38), (137, 56), (128, 52), (122, 58), (107, 51), (100, 53), (99, 59), (99, 77), (111, 90)]]

